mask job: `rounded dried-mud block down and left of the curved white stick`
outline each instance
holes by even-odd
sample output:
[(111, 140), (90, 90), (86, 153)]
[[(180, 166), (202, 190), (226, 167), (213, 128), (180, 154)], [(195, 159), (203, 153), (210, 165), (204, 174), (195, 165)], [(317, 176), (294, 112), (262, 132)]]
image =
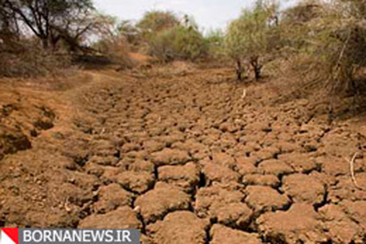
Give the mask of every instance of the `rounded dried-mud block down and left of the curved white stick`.
[(324, 184), (315, 177), (306, 174), (291, 174), (282, 180), (283, 191), (294, 202), (320, 204), (324, 201)]

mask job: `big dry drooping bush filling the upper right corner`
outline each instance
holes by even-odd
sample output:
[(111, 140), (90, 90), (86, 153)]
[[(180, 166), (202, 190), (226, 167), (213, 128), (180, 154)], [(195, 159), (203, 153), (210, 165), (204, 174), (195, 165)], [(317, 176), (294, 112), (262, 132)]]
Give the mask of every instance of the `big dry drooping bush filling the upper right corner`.
[(287, 11), (285, 46), (306, 57), (294, 66), (317, 74), (305, 87), (323, 87), (331, 95), (362, 92), (355, 74), (366, 64), (366, 16), (355, 7), (359, 2), (311, 1)]

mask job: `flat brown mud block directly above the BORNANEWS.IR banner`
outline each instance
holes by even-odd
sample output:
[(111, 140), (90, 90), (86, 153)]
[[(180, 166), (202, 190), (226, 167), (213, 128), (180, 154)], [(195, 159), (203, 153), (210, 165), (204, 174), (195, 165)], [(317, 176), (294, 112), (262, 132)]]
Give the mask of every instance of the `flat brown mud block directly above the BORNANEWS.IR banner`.
[(79, 222), (78, 228), (83, 229), (141, 229), (142, 223), (128, 206), (108, 212), (93, 214)]

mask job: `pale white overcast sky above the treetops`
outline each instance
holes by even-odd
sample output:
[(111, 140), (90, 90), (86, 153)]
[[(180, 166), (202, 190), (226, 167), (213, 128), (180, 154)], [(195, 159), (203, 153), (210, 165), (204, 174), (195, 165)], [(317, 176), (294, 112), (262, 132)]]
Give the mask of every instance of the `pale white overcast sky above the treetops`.
[[(171, 10), (177, 14), (192, 15), (198, 25), (209, 29), (225, 28), (239, 16), (240, 10), (250, 7), (255, 0), (94, 0), (98, 10), (119, 19), (141, 19), (146, 11)], [(296, 0), (284, 1), (288, 5)]]

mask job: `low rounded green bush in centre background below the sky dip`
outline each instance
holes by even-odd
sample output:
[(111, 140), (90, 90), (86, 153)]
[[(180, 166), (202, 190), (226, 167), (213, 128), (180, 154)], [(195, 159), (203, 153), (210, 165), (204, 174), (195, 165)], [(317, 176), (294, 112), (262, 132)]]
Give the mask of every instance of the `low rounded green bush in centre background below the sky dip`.
[(150, 53), (164, 62), (175, 59), (193, 61), (206, 52), (202, 34), (191, 26), (174, 26), (161, 31), (150, 41)]

